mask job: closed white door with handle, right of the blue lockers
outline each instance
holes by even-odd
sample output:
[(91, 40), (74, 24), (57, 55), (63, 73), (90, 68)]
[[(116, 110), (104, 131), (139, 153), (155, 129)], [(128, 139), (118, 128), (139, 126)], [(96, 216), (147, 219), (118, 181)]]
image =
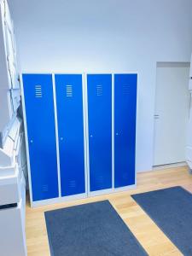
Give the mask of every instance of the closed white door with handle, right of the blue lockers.
[(154, 166), (185, 161), (189, 101), (189, 63), (158, 63)]

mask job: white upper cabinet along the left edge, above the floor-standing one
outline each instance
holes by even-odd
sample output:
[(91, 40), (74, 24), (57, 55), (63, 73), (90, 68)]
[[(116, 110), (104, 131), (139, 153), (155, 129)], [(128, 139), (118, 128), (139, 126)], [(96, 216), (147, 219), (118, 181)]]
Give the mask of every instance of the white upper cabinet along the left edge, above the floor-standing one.
[(3, 147), (20, 106), (15, 33), (6, 0), (0, 1), (0, 63), (0, 147)]

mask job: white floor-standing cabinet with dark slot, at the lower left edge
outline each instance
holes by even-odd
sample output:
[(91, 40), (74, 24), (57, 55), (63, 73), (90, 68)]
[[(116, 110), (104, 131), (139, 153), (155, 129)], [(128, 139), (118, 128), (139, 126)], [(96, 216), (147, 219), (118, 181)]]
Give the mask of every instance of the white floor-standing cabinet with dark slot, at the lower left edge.
[(20, 121), (0, 148), (0, 255), (26, 256), (26, 182), (20, 162)]

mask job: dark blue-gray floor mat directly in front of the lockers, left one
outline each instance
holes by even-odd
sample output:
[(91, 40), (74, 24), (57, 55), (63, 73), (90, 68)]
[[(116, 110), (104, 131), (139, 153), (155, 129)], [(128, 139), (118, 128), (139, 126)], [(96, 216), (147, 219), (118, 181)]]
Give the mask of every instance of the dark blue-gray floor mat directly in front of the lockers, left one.
[(51, 256), (148, 255), (109, 201), (44, 214)]

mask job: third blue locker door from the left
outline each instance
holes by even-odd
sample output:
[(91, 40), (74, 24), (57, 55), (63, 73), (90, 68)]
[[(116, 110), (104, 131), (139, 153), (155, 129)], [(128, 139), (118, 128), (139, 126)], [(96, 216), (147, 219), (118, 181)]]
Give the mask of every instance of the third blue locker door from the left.
[(88, 74), (90, 191), (112, 188), (112, 75)]

